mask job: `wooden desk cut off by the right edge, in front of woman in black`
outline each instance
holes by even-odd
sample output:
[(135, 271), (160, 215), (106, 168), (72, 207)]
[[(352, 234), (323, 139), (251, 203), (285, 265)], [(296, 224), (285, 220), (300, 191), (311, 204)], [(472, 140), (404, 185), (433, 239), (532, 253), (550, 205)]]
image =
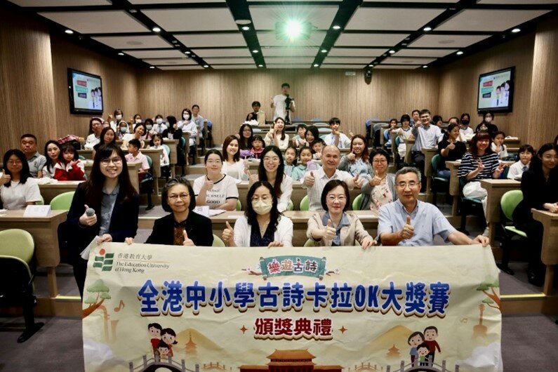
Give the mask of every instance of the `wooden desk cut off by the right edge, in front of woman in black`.
[(543, 250), (540, 252), (540, 258), (546, 265), (543, 293), (551, 295), (554, 286), (554, 265), (558, 264), (558, 213), (536, 209), (531, 209), (531, 212), (533, 212), (533, 218), (542, 223), (544, 228)]

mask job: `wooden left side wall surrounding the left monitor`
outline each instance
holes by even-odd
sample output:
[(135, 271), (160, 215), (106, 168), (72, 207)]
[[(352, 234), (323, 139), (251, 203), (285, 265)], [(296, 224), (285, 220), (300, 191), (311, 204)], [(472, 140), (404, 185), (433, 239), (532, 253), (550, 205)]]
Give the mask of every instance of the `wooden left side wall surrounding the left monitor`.
[(68, 67), (100, 75), (105, 107), (103, 117), (112, 114), (117, 108), (124, 111), (126, 120), (138, 112), (140, 95), (148, 93), (138, 90), (135, 67), (69, 43), (58, 36), (51, 36), (51, 45), (57, 129), (53, 138), (68, 134), (86, 136), (89, 129), (90, 114), (69, 112)]

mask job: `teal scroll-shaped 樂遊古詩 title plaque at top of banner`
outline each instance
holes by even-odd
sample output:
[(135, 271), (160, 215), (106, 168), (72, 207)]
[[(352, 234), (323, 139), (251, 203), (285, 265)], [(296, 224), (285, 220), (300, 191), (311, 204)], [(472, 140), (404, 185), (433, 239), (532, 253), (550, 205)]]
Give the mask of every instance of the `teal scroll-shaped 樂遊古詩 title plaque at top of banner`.
[(308, 255), (276, 255), (274, 257), (260, 257), (260, 267), (263, 279), (269, 277), (288, 277), (303, 275), (322, 279), (326, 272), (326, 258)]

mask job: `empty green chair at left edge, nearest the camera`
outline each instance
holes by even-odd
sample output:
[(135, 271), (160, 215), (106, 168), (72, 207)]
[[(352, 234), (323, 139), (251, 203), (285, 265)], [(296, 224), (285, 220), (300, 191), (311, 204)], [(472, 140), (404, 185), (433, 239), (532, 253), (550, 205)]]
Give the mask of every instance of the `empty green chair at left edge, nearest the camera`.
[(33, 294), (34, 267), (29, 265), (34, 247), (33, 237), (25, 230), (0, 232), (0, 303), (23, 306), (25, 331), (18, 338), (18, 343), (24, 343), (44, 325), (36, 323), (33, 314), (36, 303)]

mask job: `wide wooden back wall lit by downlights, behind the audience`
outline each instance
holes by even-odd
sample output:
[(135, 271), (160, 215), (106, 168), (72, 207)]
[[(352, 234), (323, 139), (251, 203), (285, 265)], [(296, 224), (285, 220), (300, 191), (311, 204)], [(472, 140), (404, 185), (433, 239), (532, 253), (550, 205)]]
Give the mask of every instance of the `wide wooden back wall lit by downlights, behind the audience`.
[(437, 110), (438, 85), (434, 71), (411, 70), (373, 72), (370, 85), (357, 70), (354, 77), (338, 69), (269, 69), (210, 71), (139, 71), (141, 114), (157, 112), (180, 116), (184, 107), (197, 103), (201, 114), (214, 123), (217, 142), (238, 131), (251, 102), (258, 100), (267, 117), (272, 115), (271, 98), (280, 93), (281, 84), (291, 84), (297, 112), (294, 117), (336, 116), (344, 130), (364, 133), (364, 121), (371, 117), (400, 117), (414, 108)]

